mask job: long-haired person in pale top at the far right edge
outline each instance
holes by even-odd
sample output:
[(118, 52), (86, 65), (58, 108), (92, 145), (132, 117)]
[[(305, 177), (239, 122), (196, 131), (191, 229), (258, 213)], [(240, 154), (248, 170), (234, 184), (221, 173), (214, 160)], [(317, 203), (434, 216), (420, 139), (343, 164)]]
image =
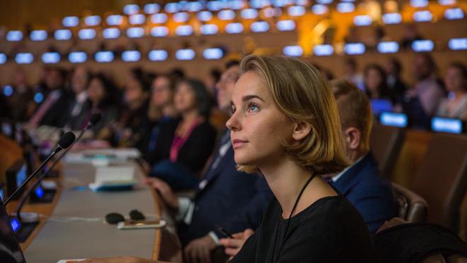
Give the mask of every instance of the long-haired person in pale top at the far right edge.
[(444, 78), (448, 98), (439, 103), (437, 115), (467, 121), (467, 69), (460, 62), (449, 65)]

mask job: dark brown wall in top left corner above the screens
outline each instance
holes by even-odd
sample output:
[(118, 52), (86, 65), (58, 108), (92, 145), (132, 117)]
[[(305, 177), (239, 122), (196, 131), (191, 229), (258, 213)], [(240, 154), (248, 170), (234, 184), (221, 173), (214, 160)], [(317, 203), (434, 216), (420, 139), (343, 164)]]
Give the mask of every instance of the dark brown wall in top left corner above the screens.
[(126, 4), (142, 6), (148, 2), (148, 0), (1, 0), (0, 27), (24, 30), (25, 25), (30, 23), (33, 28), (46, 29), (52, 18), (56, 18), (58, 23), (61, 23), (64, 16), (81, 16), (83, 12), (89, 10), (93, 14), (102, 16), (108, 11), (121, 12)]

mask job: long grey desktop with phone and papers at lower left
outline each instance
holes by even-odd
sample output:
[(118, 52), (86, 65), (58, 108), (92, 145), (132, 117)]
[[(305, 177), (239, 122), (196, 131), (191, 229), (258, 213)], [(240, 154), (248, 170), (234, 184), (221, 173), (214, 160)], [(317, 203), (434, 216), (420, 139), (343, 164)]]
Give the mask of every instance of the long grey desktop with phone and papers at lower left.
[[(135, 177), (142, 174), (134, 162), (120, 162), (112, 166), (132, 165)], [(25, 242), (24, 255), (28, 262), (57, 262), (59, 259), (88, 257), (135, 256), (162, 259), (161, 246), (170, 250), (164, 259), (180, 258), (180, 247), (173, 235), (175, 228), (170, 216), (164, 212), (153, 189), (137, 185), (132, 191), (92, 192), (87, 186), (94, 181), (96, 168), (91, 164), (62, 165), (57, 204), (52, 214), (42, 218), (38, 230)], [(118, 230), (104, 223), (111, 212), (129, 215), (137, 209), (146, 216), (163, 218), (168, 226), (163, 229)], [(172, 237), (172, 238), (171, 238)], [(164, 241), (168, 240), (168, 241)]]

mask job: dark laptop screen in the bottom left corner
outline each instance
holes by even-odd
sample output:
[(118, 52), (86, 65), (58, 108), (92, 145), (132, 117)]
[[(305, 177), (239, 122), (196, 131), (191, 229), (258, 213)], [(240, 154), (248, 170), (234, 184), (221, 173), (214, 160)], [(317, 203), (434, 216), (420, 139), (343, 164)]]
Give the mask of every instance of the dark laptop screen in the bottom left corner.
[(4, 263), (26, 262), (21, 247), (16, 240), (14, 228), (18, 228), (19, 222), (10, 221), (3, 202), (0, 202), (0, 259)]

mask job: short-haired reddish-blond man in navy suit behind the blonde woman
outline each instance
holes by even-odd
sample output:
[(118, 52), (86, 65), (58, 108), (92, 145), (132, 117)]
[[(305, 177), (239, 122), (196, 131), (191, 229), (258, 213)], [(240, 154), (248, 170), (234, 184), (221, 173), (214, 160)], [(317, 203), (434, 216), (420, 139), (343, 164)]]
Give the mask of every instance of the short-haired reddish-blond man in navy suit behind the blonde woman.
[(369, 100), (348, 81), (333, 81), (332, 86), (338, 103), (347, 158), (353, 164), (330, 177), (330, 184), (357, 208), (374, 234), (384, 221), (397, 216), (397, 206), (391, 183), (381, 177), (376, 159), (370, 151), (373, 117)]

